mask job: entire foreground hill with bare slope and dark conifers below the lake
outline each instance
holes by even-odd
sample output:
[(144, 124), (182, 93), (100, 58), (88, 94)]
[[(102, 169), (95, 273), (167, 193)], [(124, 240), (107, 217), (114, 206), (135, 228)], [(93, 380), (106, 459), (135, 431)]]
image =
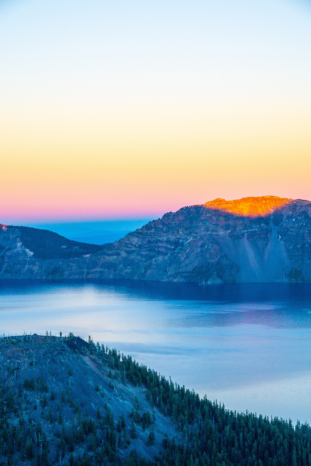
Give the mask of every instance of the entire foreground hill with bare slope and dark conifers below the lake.
[(226, 410), (68, 337), (0, 340), (0, 464), (311, 465), (311, 428)]

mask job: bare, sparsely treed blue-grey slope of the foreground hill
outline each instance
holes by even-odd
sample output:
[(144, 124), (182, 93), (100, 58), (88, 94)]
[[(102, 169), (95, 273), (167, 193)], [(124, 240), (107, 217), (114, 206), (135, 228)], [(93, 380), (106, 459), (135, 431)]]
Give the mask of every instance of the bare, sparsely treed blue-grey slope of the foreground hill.
[(73, 334), (1, 336), (0, 465), (120, 465), (135, 449), (151, 466), (180, 433), (128, 380), (132, 364)]

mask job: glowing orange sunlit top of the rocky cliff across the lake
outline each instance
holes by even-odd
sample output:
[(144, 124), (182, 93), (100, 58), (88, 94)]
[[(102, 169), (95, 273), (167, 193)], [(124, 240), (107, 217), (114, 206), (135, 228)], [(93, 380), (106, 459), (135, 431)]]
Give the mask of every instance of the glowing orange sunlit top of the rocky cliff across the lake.
[(264, 217), (270, 215), (275, 209), (280, 209), (289, 204), (293, 199), (279, 198), (277, 196), (249, 197), (226, 201), (217, 198), (203, 204), (208, 209), (229, 212), (245, 217)]

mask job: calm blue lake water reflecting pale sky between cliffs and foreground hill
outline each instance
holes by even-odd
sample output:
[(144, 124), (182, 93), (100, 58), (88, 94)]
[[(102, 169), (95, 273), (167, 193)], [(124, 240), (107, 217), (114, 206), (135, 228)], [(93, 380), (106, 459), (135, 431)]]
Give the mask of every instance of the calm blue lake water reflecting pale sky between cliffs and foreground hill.
[(0, 333), (116, 347), (227, 408), (311, 423), (311, 284), (0, 281)]

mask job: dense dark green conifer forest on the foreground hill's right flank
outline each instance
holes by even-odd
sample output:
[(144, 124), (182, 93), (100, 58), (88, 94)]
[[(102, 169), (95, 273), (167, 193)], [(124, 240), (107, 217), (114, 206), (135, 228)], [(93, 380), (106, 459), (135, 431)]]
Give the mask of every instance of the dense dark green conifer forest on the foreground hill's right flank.
[[(97, 351), (103, 351), (103, 346), (94, 345)], [(180, 387), (147, 366), (139, 365), (131, 356), (120, 355), (116, 349), (107, 347), (104, 351), (108, 353), (111, 368), (121, 370), (124, 383), (128, 380), (133, 385), (144, 385), (151, 406), (169, 416), (182, 432), (180, 444), (175, 439), (164, 439), (163, 454), (157, 458), (159, 465), (311, 465), (309, 424), (297, 421), (294, 426), (290, 419), (227, 410), (217, 400), (200, 398), (185, 386)]]

